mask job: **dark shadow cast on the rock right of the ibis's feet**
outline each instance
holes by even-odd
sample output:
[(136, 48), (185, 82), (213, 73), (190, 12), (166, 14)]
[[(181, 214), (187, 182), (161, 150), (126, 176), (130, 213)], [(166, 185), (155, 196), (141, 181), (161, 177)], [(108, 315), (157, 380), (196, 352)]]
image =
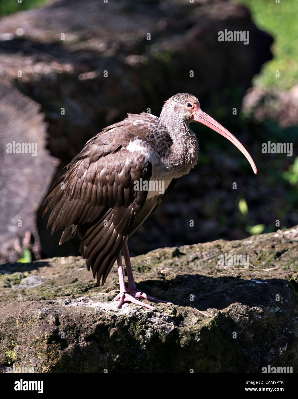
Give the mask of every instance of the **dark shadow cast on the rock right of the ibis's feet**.
[[(249, 307), (277, 306), (276, 294), (288, 296), (289, 284), (282, 279), (245, 280), (239, 277), (208, 277), (200, 274), (178, 275), (173, 280), (145, 280), (137, 286), (162, 300), (179, 306), (195, 306), (198, 310), (214, 308), (222, 310), (239, 302)], [(293, 283), (297, 290), (298, 284)], [(193, 300), (192, 299), (193, 296)], [(297, 297), (298, 299), (298, 297)], [(287, 304), (278, 306), (281, 308)]]

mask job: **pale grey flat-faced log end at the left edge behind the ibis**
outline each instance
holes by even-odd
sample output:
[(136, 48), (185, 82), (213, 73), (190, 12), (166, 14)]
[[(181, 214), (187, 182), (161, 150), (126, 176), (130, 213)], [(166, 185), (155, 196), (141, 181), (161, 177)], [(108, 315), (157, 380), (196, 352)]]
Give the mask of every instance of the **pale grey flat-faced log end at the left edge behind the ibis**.
[[(45, 150), (47, 126), (40, 109), (0, 83), (0, 263), (18, 260), (23, 247), (35, 259), (41, 252), (36, 213), (59, 162)], [(10, 152), (24, 143), (27, 153)]]

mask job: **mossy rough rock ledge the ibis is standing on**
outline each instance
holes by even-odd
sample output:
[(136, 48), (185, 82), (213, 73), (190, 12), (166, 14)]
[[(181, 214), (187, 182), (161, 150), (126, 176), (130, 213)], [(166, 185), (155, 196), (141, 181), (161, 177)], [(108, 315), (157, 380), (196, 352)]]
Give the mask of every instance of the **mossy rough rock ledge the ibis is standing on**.
[[(249, 259), (222, 266), (225, 254)], [(269, 364), (297, 371), (298, 226), (157, 249), (132, 266), (140, 289), (174, 306), (118, 310), (116, 265), (103, 287), (78, 257), (1, 265), (2, 371), (260, 373)]]

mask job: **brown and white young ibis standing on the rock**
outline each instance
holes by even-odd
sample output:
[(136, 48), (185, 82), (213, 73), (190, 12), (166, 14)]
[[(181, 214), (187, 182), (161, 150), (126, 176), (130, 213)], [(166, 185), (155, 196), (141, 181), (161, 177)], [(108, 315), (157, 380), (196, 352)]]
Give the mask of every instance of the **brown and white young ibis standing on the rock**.
[(159, 117), (127, 114), (90, 138), (44, 201), (44, 214), (51, 209), (51, 233), (63, 229), (59, 244), (78, 234), (80, 253), (98, 285), (104, 284), (117, 261), (120, 292), (113, 301), (119, 301), (118, 308), (132, 303), (157, 310), (141, 299), (173, 305), (137, 288), (127, 241), (173, 190), (176, 180), (196, 165), (198, 139), (190, 122), (227, 138), (257, 174), (253, 159), (237, 138), (204, 113), (195, 96), (179, 93), (164, 103)]

